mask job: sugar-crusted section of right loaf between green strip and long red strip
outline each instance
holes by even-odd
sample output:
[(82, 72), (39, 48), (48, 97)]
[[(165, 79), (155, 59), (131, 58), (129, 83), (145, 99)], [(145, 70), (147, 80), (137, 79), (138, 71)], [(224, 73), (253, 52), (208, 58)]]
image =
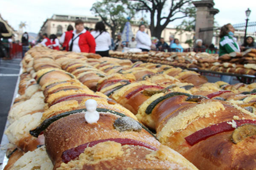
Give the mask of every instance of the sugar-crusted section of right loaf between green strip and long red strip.
[[(227, 102), (218, 102), (218, 105), (216, 102), (207, 103), (203, 102), (199, 104), (200, 107), (196, 106), (183, 112), (173, 113), (175, 116), (170, 116), (169, 120), (166, 119), (163, 122), (163, 128), (157, 129), (159, 141), (182, 153), (189, 149), (189, 147), (181, 145), (185, 142), (184, 138), (198, 130), (232, 119), (256, 119), (253, 113), (245, 111), (237, 105), (230, 105)], [(188, 121), (186, 117), (190, 117)], [(182, 121), (174, 123), (175, 119), (182, 119)], [(168, 128), (170, 126), (171, 128)]]

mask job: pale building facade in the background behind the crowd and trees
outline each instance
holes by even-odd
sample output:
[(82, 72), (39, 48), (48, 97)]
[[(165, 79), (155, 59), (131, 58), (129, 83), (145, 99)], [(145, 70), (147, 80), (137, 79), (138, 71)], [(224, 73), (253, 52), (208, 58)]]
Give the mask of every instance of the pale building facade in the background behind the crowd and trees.
[[(72, 25), (75, 28), (75, 20), (81, 19), (84, 21), (84, 27), (94, 28), (95, 24), (101, 19), (99, 17), (88, 17), (88, 16), (81, 16), (81, 15), (58, 15), (54, 14), (51, 18), (47, 19), (43, 26), (41, 26), (40, 33), (47, 35), (56, 34), (57, 37), (60, 37), (62, 33), (67, 31), (67, 26)], [(139, 24), (131, 25), (132, 32), (134, 37), (139, 30)], [(106, 28), (107, 31), (111, 34), (111, 29)], [(149, 28), (146, 28), (146, 33), (151, 36)], [(189, 48), (189, 45), (185, 42), (187, 40), (191, 40), (194, 37), (194, 32), (185, 31), (182, 34), (176, 33), (175, 28), (165, 28), (162, 31), (161, 37), (169, 44), (169, 36), (173, 35), (175, 38), (179, 39), (180, 44), (183, 48)]]

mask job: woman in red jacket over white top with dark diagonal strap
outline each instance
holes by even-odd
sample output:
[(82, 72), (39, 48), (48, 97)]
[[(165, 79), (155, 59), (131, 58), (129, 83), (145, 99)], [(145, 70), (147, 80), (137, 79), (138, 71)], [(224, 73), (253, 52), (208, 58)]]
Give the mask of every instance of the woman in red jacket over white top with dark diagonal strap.
[(69, 51), (95, 53), (95, 40), (90, 32), (84, 29), (84, 22), (76, 20), (75, 28), (69, 42)]

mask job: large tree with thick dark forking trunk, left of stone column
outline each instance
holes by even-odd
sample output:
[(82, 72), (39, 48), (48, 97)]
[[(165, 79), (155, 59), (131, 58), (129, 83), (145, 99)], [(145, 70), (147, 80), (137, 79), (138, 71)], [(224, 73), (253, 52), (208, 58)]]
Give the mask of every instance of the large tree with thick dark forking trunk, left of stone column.
[(128, 0), (136, 11), (150, 12), (151, 36), (160, 38), (166, 26), (177, 19), (189, 16), (189, 3), (193, 0)]

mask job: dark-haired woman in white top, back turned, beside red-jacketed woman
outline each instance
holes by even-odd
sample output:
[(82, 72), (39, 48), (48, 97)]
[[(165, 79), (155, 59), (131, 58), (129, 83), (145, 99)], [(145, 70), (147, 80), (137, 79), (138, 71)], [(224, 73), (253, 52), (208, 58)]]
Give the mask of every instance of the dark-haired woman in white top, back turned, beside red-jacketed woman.
[(99, 54), (102, 57), (108, 57), (109, 46), (111, 45), (110, 34), (106, 31), (103, 22), (96, 23), (94, 30), (95, 31), (92, 31), (91, 34), (96, 42), (96, 54)]

